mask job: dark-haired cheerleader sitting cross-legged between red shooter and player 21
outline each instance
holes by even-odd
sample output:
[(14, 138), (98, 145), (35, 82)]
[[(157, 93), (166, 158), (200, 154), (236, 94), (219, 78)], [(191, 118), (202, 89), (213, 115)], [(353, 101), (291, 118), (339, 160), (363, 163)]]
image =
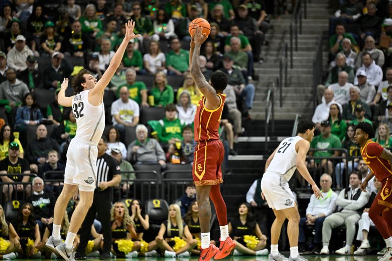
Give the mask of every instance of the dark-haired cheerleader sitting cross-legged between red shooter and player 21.
[(267, 237), (261, 233), (249, 204), (242, 203), (240, 205), (238, 214), (229, 222), (229, 234), (234, 234), (233, 239), (236, 242), (234, 256), (268, 255), (268, 249), (265, 248)]

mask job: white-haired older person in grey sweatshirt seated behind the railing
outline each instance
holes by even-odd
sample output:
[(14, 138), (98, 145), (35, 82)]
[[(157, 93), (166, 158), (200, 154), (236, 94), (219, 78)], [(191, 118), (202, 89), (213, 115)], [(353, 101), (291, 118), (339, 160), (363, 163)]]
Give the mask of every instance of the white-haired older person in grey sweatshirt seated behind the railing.
[(147, 127), (139, 124), (136, 127), (136, 140), (128, 145), (126, 159), (131, 163), (159, 163), (166, 166), (165, 152), (159, 142), (147, 138)]

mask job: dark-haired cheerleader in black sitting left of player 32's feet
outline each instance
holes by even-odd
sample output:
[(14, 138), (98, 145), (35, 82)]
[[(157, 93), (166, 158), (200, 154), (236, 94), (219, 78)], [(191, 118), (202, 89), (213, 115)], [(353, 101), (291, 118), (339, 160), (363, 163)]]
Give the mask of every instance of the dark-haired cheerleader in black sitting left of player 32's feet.
[(14, 221), (15, 231), (18, 234), (20, 246), (18, 253), (23, 257), (41, 258), (40, 227), (35, 222), (34, 208), (30, 203), (23, 204), (18, 218)]

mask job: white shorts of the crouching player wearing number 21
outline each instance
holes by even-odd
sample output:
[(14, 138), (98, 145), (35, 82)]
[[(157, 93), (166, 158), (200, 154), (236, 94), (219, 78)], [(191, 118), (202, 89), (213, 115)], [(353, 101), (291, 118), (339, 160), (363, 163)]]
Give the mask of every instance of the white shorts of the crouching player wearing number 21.
[(261, 179), (261, 191), (271, 209), (283, 210), (293, 208), (295, 199), (289, 183), (279, 173), (266, 172)]

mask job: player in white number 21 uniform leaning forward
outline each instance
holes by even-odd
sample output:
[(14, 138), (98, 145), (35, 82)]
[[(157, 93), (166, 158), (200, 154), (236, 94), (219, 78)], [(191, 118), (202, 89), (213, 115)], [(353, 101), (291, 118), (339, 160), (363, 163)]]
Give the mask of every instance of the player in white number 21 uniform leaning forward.
[(306, 261), (298, 254), (298, 224), (299, 213), (294, 200), (294, 195), (289, 188), (288, 181), (293, 176), (295, 169), (310, 183), (316, 198), (321, 196), (320, 190), (310, 176), (305, 165), (306, 154), (313, 139), (315, 123), (311, 120), (298, 122), (298, 135), (286, 138), (280, 142), (266, 162), (266, 172), (261, 180), (262, 196), (275, 214), (271, 227), (271, 253), (269, 260), (287, 260), (278, 251), (278, 239), (284, 221), (289, 219), (287, 234), (290, 242), (291, 261)]

